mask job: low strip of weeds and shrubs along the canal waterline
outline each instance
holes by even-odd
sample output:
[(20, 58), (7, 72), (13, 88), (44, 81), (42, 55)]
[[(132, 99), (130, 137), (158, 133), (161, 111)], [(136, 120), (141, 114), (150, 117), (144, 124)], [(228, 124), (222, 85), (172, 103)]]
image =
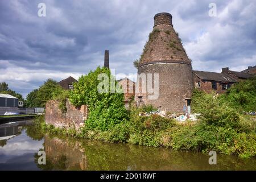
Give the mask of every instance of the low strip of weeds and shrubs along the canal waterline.
[(178, 123), (174, 119), (159, 115), (138, 117), (138, 110), (130, 113), (130, 121), (119, 123), (108, 131), (92, 130), (87, 127), (80, 131), (59, 129), (46, 125), (43, 117), (35, 119), (43, 133), (67, 135), (75, 138), (122, 142), (152, 147), (168, 147), (181, 151), (214, 150), (221, 154), (238, 155), (240, 158), (253, 158), (256, 154), (255, 122), (251, 117), (241, 118), (237, 129), (209, 125), (204, 119)]

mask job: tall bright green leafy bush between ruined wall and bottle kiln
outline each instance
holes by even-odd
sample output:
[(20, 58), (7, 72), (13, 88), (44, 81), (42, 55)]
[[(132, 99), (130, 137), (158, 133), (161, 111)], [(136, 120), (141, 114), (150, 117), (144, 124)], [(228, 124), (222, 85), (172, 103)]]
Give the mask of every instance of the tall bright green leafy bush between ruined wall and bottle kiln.
[[(123, 103), (123, 93), (98, 92), (98, 75), (106, 73), (109, 80), (113, 79), (108, 68), (98, 67), (96, 71), (89, 72), (88, 75), (81, 76), (74, 84), (74, 89), (69, 95), (69, 100), (75, 106), (88, 105), (89, 118), (86, 120), (86, 127), (106, 131), (114, 127), (117, 123), (125, 121), (127, 112)], [(118, 84), (114, 80), (115, 85)], [(111, 86), (111, 82), (107, 83)]]

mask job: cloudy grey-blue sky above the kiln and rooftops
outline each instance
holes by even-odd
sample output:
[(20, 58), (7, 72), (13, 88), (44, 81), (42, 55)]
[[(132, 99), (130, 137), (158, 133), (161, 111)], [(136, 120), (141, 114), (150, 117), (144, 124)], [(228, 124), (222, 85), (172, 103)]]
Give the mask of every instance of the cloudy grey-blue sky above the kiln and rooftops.
[[(210, 17), (209, 3), (217, 16)], [(38, 4), (46, 4), (46, 17)], [(78, 78), (104, 64), (137, 73), (154, 15), (168, 12), (199, 71), (242, 71), (256, 65), (255, 1), (0, 1), (0, 82), (26, 97), (47, 78)]]

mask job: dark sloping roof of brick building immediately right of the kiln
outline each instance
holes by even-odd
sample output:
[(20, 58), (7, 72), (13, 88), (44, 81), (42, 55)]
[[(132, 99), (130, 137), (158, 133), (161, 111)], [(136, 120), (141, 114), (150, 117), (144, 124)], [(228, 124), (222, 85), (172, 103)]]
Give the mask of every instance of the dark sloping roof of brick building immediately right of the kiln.
[(216, 72), (203, 72), (203, 71), (193, 71), (196, 76), (202, 80), (213, 80), (221, 82), (237, 82), (234, 78), (230, 77), (225, 73), (216, 73)]

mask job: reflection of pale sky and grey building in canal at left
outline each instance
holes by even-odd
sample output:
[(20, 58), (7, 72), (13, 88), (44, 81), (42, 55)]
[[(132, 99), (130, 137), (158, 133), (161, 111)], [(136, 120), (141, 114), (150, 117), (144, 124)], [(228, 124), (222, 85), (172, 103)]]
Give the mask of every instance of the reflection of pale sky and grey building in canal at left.
[(34, 154), (43, 147), (43, 140), (28, 137), (27, 125), (32, 121), (18, 121), (0, 125), (0, 170), (38, 170)]

